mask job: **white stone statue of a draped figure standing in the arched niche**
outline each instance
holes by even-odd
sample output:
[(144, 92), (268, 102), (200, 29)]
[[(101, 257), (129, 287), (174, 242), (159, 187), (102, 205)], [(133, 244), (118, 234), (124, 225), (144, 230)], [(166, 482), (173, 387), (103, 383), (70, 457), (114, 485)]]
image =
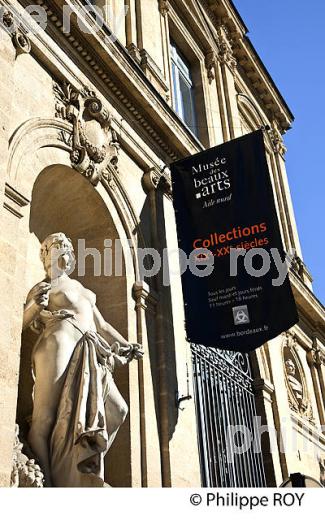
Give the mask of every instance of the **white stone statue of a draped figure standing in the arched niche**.
[(41, 245), (46, 278), (31, 289), (24, 328), (39, 338), (32, 352), (34, 376), (30, 447), (45, 485), (101, 487), (104, 456), (127, 415), (113, 370), (141, 359), (96, 307), (96, 295), (69, 277), (75, 257), (64, 233)]

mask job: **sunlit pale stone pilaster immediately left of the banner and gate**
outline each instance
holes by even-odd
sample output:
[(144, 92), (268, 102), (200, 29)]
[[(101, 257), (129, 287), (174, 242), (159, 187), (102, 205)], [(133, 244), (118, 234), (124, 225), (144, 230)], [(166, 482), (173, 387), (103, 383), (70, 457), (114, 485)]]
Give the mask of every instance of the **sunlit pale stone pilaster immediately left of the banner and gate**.
[[(197, 417), (190, 344), (186, 341), (183, 292), (178, 256), (175, 212), (170, 185), (160, 181), (159, 234), (164, 236), (164, 331), (169, 404), (169, 458), (172, 487), (200, 487)], [(178, 399), (183, 398), (179, 403)], [(188, 456), (190, 454), (190, 456)]]

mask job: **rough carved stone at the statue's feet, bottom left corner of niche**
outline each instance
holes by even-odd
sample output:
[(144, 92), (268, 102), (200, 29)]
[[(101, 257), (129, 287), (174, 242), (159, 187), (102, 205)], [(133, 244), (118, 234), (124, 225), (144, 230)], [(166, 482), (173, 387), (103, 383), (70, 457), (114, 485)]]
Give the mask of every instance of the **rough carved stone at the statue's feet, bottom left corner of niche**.
[(23, 447), (19, 440), (19, 426), (16, 424), (10, 487), (43, 487), (42, 470), (34, 459), (29, 459), (23, 453)]

